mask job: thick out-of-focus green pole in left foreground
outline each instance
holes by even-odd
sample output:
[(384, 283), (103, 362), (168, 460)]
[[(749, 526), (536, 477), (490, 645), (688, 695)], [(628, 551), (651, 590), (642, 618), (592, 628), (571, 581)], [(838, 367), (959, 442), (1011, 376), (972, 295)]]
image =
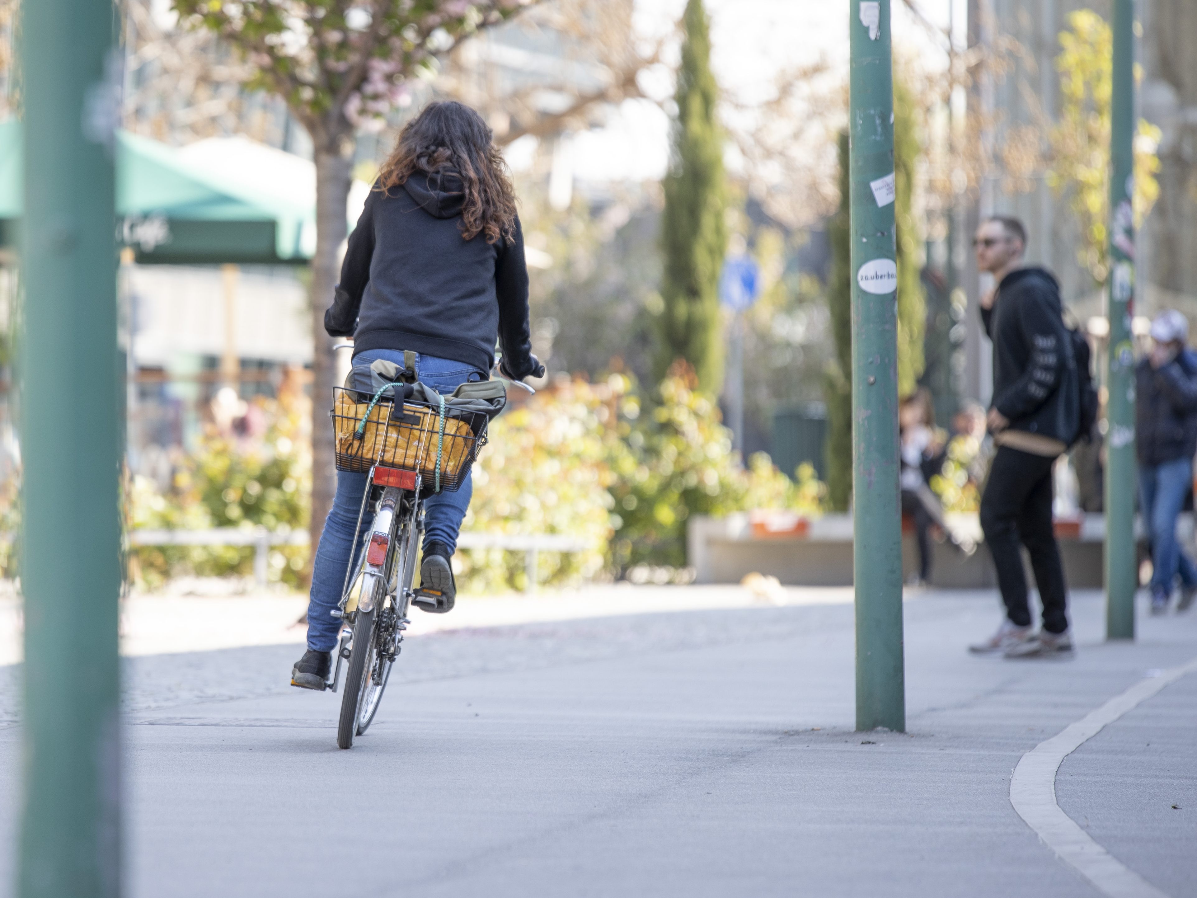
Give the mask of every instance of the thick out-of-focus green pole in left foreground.
[(113, 5), (22, 4), (22, 898), (120, 892)]

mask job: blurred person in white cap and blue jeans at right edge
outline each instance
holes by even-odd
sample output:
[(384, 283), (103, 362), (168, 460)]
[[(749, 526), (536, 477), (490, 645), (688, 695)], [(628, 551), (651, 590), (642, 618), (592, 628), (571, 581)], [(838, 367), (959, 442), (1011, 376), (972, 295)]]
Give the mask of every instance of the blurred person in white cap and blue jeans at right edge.
[(1160, 313), (1152, 339), (1152, 354), (1135, 369), (1135, 450), (1140, 508), (1152, 539), (1152, 613), (1162, 614), (1177, 575), (1177, 611), (1197, 595), (1197, 568), (1177, 542), (1177, 516), (1193, 485), (1197, 356), (1186, 346), (1189, 321), (1179, 311)]

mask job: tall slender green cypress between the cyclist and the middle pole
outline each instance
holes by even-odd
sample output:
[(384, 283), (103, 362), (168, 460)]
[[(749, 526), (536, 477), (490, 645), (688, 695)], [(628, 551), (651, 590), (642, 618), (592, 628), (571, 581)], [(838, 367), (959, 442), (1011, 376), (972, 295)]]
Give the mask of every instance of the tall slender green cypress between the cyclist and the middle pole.
[(698, 375), (699, 387), (713, 394), (723, 381), (718, 285), (728, 235), (723, 141), (716, 121), (718, 85), (711, 73), (710, 30), (701, 0), (688, 0), (682, 25), (678, 120), (664, 180), (664, 308), (656, 375), (663, 377), (676, 359), (685, 359)]

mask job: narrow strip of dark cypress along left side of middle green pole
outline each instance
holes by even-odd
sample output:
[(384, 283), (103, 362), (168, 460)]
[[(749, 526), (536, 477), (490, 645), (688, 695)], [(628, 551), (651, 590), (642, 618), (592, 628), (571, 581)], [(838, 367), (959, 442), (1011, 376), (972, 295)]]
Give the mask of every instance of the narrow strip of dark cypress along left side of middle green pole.
[(824, 374), (824, 402), (827, 405), (824, 467), (827, 472), (827, 504), (832, 511), (846, 511), (852, 497), (852, 248), (849, 229), (849, 171), (845, 131), (839, 135), (839, 208), (827, 222), (827, 241), (831, 244), (827, 310), (836, 356)]

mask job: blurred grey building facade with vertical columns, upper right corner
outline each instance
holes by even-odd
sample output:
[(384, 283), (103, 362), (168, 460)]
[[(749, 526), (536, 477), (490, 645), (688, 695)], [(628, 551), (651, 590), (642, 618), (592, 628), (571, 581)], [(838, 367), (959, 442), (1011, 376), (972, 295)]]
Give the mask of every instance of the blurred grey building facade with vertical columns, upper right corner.
[[(1105, 314), (1104, 291), (1077, 257), (1081, 235), (1069, 208), (1068, 196), (1055, 192), (1047, 181), (1047, 166), (1014, 170), (1003, 160), (1004, 146), (1020, 128), (1043, 129), (1056, 122), (1061, 85), (1055, 60), (1059, 34), (1068, 17), (1078, 10), (1093, 10), (1107, 22), (1110, 0), (970, 0), (970, 42), (995, 45), (1013, 37), (1022, 51), (1005, 53), (1009, 69), (1001, 78), (982, 78), (970, 102), (992, 114), (989, 139), (995, 164), (980, 184), (978, 202), (968, 211), (967, 223), (991, 213), (1014, 214), (1029, 231), (1028, 260), (1050, 268), (1061, 281), (1064, 302), (1084, 321)], [(1138, 60), (1143, 67), (1140, 85), (1140, 116), (1162, 131), (1159, 146), (1160, 196), (1138, 232), (1140, 290), (1137, 313), (1152, 315), (1161, 308), (1177, 308), (1197, 324), (1197, 56), (1190, 44), (1197, 35), (1197, 4), (1190, 0), (1141, 0)], [(1046, 159), (1047, 157), (1044, 156)], [(988, 286), (971, 265), (966, 241), (971, 227), (961, 229), (964, 285), (970, 298), (970, 327), (966, 393), (988, 400), (988, 345), (979, 338), (976, 302)]]

